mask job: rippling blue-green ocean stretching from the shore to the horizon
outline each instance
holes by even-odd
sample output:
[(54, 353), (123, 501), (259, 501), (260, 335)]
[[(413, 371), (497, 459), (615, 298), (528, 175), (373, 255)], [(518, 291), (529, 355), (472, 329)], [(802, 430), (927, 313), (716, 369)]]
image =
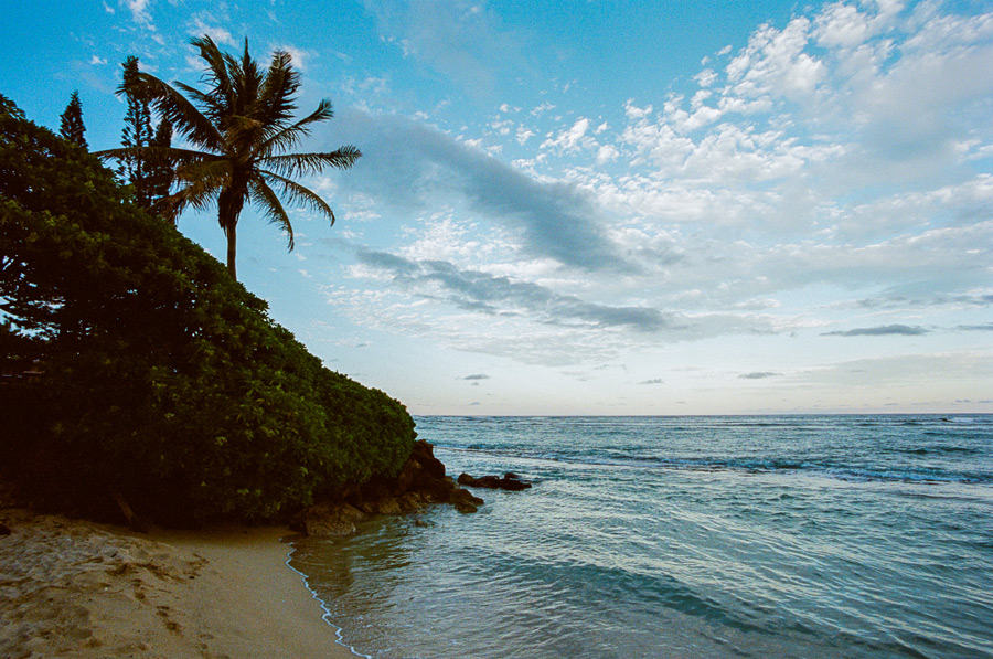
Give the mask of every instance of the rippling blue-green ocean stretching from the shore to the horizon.
[(478, 513), (307, 539), (367, 657), (993, 657), (993, 415), (418, 417)]

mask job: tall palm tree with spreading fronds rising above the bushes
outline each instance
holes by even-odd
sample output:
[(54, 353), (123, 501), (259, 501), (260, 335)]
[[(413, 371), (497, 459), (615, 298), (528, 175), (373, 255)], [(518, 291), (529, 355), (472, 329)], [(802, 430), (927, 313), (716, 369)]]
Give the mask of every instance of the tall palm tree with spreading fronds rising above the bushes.
[(273, 53), (268, 70), (263, 71), (248, 54), (247, 38), (241, 59), (222, 53), (210, 36), (191, 43), (206, 62), (201, 78), (206, 91), (180, 82), (172, 86), (148, 73), (139, 73), (130, 85), (194, 148), (147, 146), (98, 155), (172, 163), (178, 190), (162, 200), (163, 214), (174, 222), (186, 206), (204, 210), (216, 203), (217, 221), (227, 238), (227, 269), (237, 279), (237, 224), (245, 203), (258, 204), (287, 233), (292, 251), (293, 227), (280, 198), (322, 213), (333, 225), (331, 206), (293, 179), (325, 167), (349, 169), (361, 153), (352, 146), (324, 153), (289, 152), (310, 135), (313, 124), (334, 113), (331, 102), (323, 99), (310, 115), (293, 121), (300, 73), (288, 52)]

